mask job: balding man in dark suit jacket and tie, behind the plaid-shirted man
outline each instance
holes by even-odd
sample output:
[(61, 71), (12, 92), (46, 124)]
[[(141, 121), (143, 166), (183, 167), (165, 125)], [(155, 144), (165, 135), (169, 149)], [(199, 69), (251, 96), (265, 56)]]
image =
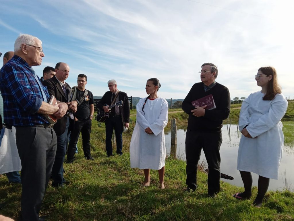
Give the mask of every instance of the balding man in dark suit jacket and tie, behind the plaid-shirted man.
[[(65, 80), (69, 76), (69, 65), (66, 63), (59, 62), (55, 66), (55, 76), (42, 81), (44, 86), (47, 86), (49, 95), (54, 95), (56, 100), (68, 103), (68, 89), (71, 87)], [(66, 93), (66, 94), (65, 94)], [(68, 110), (76, 112), (78, 101), (74, 100), (68, 103)], [(57, 150), (54, 165), (52, 168), (52, 186), (53, 187), (64, 187), (65, 179), (63, 177), (63, 161), (67, 146), (67, 134), (69, 129), (69, 116), (65, 115), (63, 118), (57, 120), (54, 124), (54, 131), (57, 135)]]

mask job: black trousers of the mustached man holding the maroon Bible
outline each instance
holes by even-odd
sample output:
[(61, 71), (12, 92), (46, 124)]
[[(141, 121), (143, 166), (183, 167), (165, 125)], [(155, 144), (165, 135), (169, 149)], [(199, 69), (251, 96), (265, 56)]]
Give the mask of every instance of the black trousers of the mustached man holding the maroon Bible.
[(220, 145), (221, 132), (196, 132), (186, 133), (186, 184), (190, 189), (197, 188), (197, 165), (203, 148), (208, 164), (208, 194), (220, 191)]

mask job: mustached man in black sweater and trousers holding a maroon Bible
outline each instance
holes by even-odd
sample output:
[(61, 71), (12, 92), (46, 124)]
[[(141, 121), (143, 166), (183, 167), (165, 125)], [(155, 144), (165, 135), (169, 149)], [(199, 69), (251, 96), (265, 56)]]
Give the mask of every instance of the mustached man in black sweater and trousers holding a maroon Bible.
[[(182, 103), (183, 110), (189, 114), (186, 134), (186, 184), (187, 191), (197, 188), (197, 165), (203, 148), (208, 164), (208, 196), (214, 197), (220, 191), (220, 145), (223, 120), (230, 113), (230, 92), (228, 88), (215, 81), (218, 69), (212, 63), (201, 66), (201, 81), (195, 83)], [(212, 95), (215, 109), (206, 110), (206, 105), (194, 107), (192, 102)]]

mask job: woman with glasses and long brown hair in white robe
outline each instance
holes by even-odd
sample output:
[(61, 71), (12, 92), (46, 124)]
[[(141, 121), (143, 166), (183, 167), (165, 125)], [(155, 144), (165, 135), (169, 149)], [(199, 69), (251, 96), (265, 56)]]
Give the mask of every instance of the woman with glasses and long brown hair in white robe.
[(258, 177), (258, 194), (253, 206), (262, 205), (270, 179), (278, 179), (283, 153), (283, 124), (288, 102), (281, 94), (273, 67), (261, 67), (255, 75), (261, 91), (246, 98), (240, 110), (239, 130), (243, 134), (238, 150), (237, 169), (240, 171), (245, 191), (233, 195), (236, 199), (251, 197), (252, 176)]

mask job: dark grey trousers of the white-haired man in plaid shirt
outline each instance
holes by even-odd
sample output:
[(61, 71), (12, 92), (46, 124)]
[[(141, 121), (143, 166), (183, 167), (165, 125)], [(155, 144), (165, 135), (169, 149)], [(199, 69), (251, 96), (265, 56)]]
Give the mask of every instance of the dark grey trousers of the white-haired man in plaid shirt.
[(53, 128), (16, 127), (16, 146), (21, 159), (21, 221), (39, 221), (39, 211), (56, 153)]

